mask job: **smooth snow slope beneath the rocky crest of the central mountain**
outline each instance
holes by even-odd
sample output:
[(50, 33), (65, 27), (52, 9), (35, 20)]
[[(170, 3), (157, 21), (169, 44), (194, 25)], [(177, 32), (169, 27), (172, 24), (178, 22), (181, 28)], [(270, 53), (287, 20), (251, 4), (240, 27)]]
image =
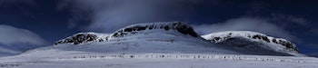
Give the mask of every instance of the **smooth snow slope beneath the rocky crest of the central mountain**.
[(57, 44), (30, 52), (44, 52), (50, 49), (94, 53), (236, 53), (218, 48), (200, 37), (160, 29), (127, 34), (105, 42)]

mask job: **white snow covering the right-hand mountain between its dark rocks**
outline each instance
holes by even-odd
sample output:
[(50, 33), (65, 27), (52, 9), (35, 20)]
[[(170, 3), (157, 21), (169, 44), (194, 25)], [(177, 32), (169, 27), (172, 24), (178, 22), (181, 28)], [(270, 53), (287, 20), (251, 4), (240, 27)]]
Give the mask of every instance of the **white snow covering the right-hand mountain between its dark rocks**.
[[(263, 35), (266, 38), (268, 38), (269, 42), (266, 42), (262, 39), (253, 39), (253, 35)], [(285, 39), (282, 38), (274, 38), (272, 36), (267, 36), (265, 34), (260, 34), (260, 33), (255, 33), (255, 32), (250, 32), (250, 31), (224, 31), (224, 32), (218, 32), (218, 33), (212, 33), (212, 34), (205, 34), (202, 35), (202, 37), (206, 40), (210, 40), (213, 43), (227, 43), (226, 41), (229, 38), (236, 38), (239, 39), (240, 41), (248, 41), (248, 43), (253, 43), (256, 46), (260, 46), (263, 47), (265, 49), (268, 50), (273, 50), (275, 52), (279, 52), (279, 53), (289, 53), (289, 54), (293, 54), (296, 56), (304, 56), (302, 53), (298, 53), (296, 50), (293, 50), (291, 48), (287, 48), (286, 46), (279, 44), (279, 43), (273, 43), (273, 39), (275, 39), (276, 41), (283, 41), (286, 43), (290, 43)], [(218, 40), (214, 40), (215, 37), (219, 37)], [(234, 43), (235, 42), (235, 43)], [(229, 44), (245, 44), (245, 42), (238, 42), (238, 41), (234, 41), (234, 42), (228, 42)], [(296, 48), (295, 44), (292, 45), (293, 48)]]

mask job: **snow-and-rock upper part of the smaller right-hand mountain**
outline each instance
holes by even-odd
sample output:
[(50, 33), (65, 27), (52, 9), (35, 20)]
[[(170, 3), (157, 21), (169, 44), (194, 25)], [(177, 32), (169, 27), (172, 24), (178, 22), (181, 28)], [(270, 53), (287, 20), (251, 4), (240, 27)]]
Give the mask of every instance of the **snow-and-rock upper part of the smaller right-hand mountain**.
[(225, 31), (213, 34), (206, 34), (203, 35), (203, 37), (204, 39), (214, 44), (231, 45), (237, 48), (249, 47), (250, 49), (252, 49), (261, 47), (279, 53), (299, 53), (296, 45), (285, 39), (274, 38), (265, 34), (255, 32)]

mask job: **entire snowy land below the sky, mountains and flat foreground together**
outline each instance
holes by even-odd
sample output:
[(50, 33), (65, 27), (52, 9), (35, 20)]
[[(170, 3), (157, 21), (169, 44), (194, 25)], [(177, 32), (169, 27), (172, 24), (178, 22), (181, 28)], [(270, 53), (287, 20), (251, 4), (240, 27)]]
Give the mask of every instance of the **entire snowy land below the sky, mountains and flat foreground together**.
[(113, 34), (74, 34), (51, 46), (2, 57), (0, 67), (318, 67), (317, 58), (299, 56), (294, 44), (265, 34), (229, 31), (201, 37), (188, 24), (168, 22), (133, 24)]

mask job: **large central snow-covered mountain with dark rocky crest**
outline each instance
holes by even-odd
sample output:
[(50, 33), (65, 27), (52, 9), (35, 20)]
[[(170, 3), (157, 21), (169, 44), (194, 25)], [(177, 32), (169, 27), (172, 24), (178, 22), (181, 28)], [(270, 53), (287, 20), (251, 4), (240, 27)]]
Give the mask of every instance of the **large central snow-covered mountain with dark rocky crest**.
[(50, 49), (98, 53), (236, 53), (209, 43), (190, 25), (180, 22), (133, 24), (113, 34), (79, 33), (42, 50)]

